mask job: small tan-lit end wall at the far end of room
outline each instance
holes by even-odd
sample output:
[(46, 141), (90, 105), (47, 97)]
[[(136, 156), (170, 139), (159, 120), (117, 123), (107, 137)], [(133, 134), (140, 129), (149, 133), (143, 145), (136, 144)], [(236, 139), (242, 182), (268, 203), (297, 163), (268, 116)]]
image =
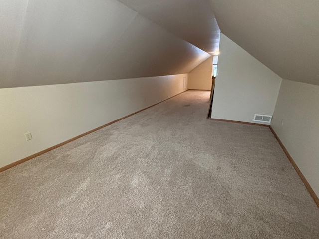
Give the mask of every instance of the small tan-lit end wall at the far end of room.
[(188, 87), (193, 90), (211, 90), (211, 72), (213, 65), (213, 57), (209, 57), (206, 61), (189, 72)]

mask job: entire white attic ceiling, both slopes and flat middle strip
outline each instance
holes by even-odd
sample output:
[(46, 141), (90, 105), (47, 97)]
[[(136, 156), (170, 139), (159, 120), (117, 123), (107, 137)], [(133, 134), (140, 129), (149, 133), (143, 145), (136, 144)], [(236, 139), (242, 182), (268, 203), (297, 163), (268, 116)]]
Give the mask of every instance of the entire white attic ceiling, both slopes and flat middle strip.
[(215, 16), (280, 77), (319, 85), (318, 0), (1, 0), (0, 88), (188, 73), (218, 51)]

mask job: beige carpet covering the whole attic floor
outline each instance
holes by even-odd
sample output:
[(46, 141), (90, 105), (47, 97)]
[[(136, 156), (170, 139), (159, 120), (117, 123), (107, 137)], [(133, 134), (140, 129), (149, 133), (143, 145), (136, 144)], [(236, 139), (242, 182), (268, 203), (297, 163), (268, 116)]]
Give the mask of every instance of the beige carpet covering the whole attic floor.
[(188, 91), (0, 174), (1, 239), (319, 239), (266, 127)]

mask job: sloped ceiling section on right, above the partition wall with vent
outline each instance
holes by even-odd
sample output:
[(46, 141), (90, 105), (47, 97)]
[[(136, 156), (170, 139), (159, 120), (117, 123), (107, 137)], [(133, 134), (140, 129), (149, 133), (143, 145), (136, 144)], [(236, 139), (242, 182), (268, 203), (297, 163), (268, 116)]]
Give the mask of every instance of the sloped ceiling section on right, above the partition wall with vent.
[(319, 85), (318, 0), (210, 1), (222, 33), (280, 77)]

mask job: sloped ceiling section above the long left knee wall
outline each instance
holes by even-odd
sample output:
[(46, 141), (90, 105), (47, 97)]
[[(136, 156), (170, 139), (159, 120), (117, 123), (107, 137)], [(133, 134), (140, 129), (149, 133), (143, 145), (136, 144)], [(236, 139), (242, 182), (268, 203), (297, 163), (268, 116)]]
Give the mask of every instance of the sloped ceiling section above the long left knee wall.
[(210, 56), (117, 0), (1, 0), (0, 20), (0, 88), (188, 73)]

